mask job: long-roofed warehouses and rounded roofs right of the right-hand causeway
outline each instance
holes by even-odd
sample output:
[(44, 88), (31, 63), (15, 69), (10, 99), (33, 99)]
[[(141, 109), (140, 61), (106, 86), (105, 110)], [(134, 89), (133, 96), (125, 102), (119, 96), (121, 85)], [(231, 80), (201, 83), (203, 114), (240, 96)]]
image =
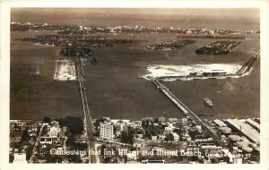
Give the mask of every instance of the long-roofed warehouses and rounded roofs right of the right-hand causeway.
[(212, 122), (215, 131), (223, 140), (230, 152), (230, 160), (243, 163), (259, 163), (260, 157), (260, 121), (259, 119), (227, 119)]

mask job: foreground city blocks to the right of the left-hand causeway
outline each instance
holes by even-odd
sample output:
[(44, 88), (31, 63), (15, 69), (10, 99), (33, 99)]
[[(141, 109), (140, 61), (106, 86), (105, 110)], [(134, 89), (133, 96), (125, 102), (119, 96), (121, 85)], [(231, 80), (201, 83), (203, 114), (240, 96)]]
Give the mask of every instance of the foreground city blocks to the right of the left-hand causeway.
[[(97, 120), (93, 120), (96, 122)], [(201, 125), (187, 118), (143, 118), (140, 121), (105, 117), (96, 127), (102, 144), (116, 146), (127, 163), (258, 163), (258, 119), (213, 120), (207, 124), (225, 143), (205, 132)], [(238, 128), (240, 126), (240, 129)], [(134, 132), (133, 142), (123, 143), (123, 132)], [(124, 146), (124, 147), (123, 147)], [(124, 148), (124, 149), (123, 149)], [(131, 150), (131, 151), (130, 151)], [(133, 151), (132, 151), (133, 150)], [(148, 153), (148, 155), (144, 155)]]

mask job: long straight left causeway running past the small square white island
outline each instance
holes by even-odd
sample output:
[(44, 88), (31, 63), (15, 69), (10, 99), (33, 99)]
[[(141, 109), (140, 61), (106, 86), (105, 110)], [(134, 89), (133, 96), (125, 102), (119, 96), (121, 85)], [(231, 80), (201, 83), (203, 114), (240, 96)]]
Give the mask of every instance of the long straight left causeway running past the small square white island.
[(89, 158), (90, 163), (96, 163), (96, 156), (91, 155), (90, 150), (95, 150), (95, 142), (92, 135), (92, 123), (91, 123), (91, 115), (90, 115), (90, 109), (88, 105), (87, 95), (86, 95), (86, 88), (85, 88), (85, 79), (82, 69), (82, 63), (79, 58), (79, 56), (75, 56), (75, 64), (76, 64), (76, 70), (77, 70), (77, 77), (80, 84), (81, 89), (81, 95), (82, 95), (82, 106), (83, 106), (83, 114), (84, 114), (84, 121), (86, 125), (86, 132), (87, 132), (87, 143), (89, 146)]

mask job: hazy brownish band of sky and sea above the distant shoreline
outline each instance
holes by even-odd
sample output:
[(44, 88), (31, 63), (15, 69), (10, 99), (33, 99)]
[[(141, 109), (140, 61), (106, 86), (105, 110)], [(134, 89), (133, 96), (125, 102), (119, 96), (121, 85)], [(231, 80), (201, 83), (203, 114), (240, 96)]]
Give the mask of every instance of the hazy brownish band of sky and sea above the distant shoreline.
[(259, 30), (260, 16), (255, 8), (12, 8), (11, 21)]

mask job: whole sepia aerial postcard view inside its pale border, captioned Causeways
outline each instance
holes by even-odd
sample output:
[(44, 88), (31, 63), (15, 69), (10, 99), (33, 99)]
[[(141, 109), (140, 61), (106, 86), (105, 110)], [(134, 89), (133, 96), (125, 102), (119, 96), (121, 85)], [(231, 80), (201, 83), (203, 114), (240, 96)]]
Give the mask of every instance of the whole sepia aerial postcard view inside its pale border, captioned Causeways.
[(12, 6), (6, 164), (260, 165), (262, 18)]

